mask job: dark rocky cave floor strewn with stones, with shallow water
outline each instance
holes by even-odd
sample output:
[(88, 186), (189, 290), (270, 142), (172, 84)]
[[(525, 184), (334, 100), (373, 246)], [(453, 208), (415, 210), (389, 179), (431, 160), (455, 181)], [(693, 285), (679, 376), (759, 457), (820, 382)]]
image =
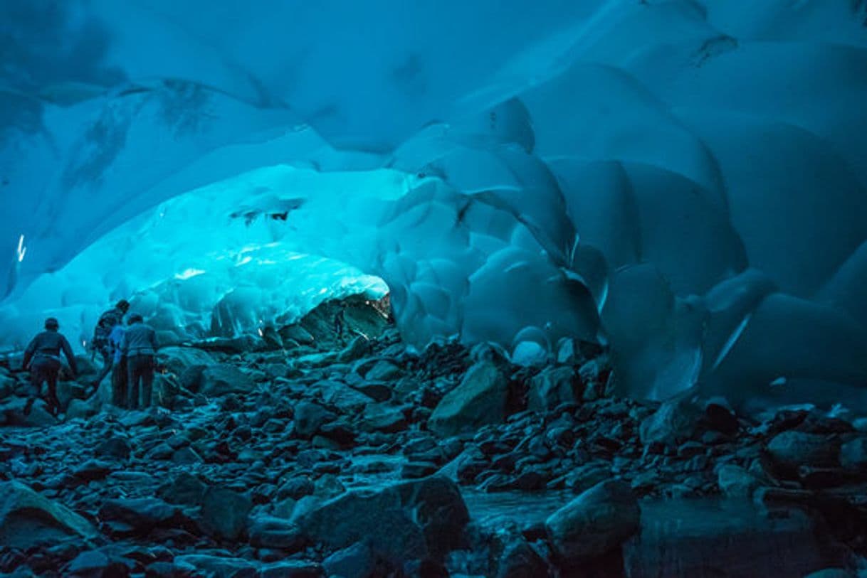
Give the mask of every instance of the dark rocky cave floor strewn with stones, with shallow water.
[(278, 343), (166, 347), (160, 407), (147, 412), (108, 406), (108, 379), (83, 399), (93, 367), (82, 359), (80, 382), (59, 388), (59, 420), (41, 401), (24, 416), (25, 375), (0, 366), (0, 571), (832, 578), (861, 568), (867, 419), (804, 409), (747, 419), (690, 394), (618, 399), (606, 354), (570, 341), (537, 368), (485, 346), (411, 354), (359, 307), (343, 342), (320, 315)]

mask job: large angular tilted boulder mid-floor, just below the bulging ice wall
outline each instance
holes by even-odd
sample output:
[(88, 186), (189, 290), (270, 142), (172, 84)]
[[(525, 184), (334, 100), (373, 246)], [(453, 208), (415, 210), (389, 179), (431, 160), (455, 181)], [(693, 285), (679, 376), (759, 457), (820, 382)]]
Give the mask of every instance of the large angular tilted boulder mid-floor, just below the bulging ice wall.
[(492, 361), (479, 361), (467, 370), (460, 385), (440, 400), (427, 427), (440, 436), (474, 431), (505, 419), (508, 381)]

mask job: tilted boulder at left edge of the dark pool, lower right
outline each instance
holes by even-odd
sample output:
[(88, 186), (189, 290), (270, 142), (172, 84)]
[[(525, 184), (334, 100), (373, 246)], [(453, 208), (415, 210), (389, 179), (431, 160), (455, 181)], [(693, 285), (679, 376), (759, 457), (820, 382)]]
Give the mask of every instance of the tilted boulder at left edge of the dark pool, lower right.
[(596, 484), (545, 520), (551, 548), (564, 566), (603, 555), (636, 534), (638, 501), (620, 480)]

